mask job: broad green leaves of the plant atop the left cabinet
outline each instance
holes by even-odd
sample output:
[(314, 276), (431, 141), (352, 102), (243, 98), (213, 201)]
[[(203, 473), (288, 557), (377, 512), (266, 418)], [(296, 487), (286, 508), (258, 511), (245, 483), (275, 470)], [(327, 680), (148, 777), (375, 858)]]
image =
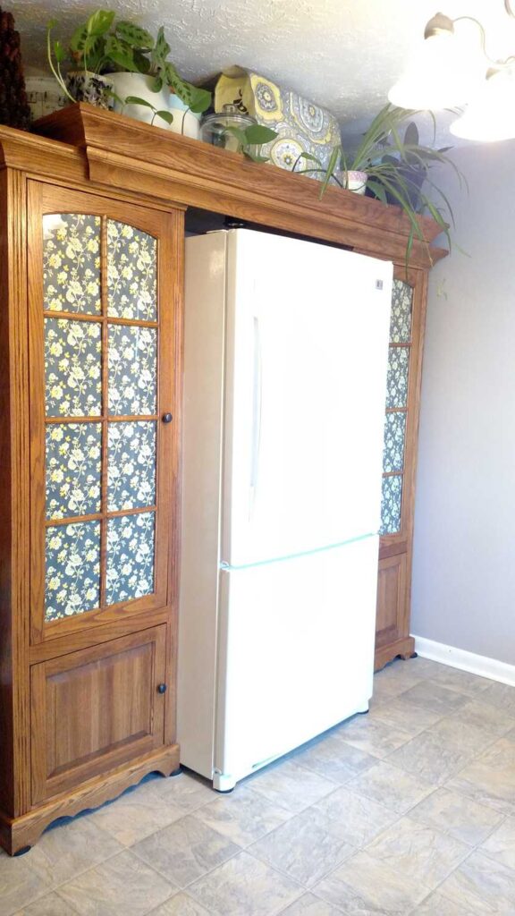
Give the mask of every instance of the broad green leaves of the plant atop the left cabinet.
[[(181, 101), (197, 114), (205, 111), (211, 104), (211, 93), (183, 80), (169, 60), (170, 45), (162, 26), (157, 38), (154, 39), (147, 29), (126, 20), (115, 22), (114, 12), (98, 9), (85, 23), (75, 29), (68, 49), (65, 49), (59, 40), (53, 40), (52, 30), (55, 26), (56, 20), (53, 19), (47, 27), (49, 66), (62, 92), (71, 102), (75, 99), (68, 90), (62, 72), (62, 66), (66, 62), (71, 64), (73, 70), (93, 72), (99, 76), (126, 71), (152, 77), (152, 89), (156, 93), (167, 85), (171, 92), (176, 93)], [(133, 104), (148, 104), (136, 96), (131, 98)], [(136, 98), (137, 102), (134, 102)], [(126, 103), (126, 100), (118, 101)], [(162, 116), (162, 112), (159, 116)]]

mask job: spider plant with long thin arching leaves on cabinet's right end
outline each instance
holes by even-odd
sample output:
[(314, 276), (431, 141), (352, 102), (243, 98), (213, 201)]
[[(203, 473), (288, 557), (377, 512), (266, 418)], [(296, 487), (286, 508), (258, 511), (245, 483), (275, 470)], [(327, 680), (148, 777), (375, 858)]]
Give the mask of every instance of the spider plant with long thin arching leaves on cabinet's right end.
[[(342, 145), (334, 147), (325, 168), (316, 157), (309, 153), (301, 153), (294, 166), (295, 169), (301, 159), (314, 163), (312, 167), (298, 170), (323, 174), (321, 198), (330, 182), (345, 189), (349, 172), (366, 172), (367, 195), (383, 203), (398, 204), (410, 221), (407, 263), (414, 239), (418, 238), (425, 242), (418, 219), (422, 213), (429, 213), (433, 217), (451, 247), (450, 224), (447, 219), (450, 219), (454, 226), (454, 214), (444, 191), (433, 180), (430, 173), (432, 166), (440, 163), (453, 169), (460, 187), (466, 185), (465, 177), (453, 160), (446, 155), (449, 147), (433, 149), (420, 143), (418, 129), (411, 121), (415, 114), (419, 113), (386, 104), (362, 136), (354, 153), (345, 152)], [(436, 121), (433, 113), (429, 114), (433, 119), (435, 133)], [(401, 136), (400, 130), (405, 125), (406, 130)], [(425, 187), (428, 189), (427, 193)], [(438, 203), (434, 202), (435, 199)]]

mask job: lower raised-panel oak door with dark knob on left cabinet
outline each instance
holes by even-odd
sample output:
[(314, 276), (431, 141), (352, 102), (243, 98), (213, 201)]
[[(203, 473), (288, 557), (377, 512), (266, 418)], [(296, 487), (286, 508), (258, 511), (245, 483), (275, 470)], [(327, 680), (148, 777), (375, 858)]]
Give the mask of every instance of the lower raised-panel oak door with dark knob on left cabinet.
[(164, 743), (166, 625), (34, 665), (32, 802)]

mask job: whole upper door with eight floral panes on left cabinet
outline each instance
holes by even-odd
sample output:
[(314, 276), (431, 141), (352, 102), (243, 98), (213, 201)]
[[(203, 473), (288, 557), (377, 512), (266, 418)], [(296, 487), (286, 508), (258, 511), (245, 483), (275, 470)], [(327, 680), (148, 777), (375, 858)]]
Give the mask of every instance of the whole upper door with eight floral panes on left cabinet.
[(173, 266), (168, 214), (34, 184), (30, 221), (38, 640), (167, 603)]

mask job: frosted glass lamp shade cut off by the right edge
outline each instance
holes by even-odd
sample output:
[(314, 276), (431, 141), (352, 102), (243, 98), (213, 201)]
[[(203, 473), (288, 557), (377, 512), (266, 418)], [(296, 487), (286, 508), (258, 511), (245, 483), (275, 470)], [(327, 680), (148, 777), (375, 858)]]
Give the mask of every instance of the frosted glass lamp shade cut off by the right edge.
[(450, 130), (483, 143), (515, 138), (515, 70), (492, 73)]

